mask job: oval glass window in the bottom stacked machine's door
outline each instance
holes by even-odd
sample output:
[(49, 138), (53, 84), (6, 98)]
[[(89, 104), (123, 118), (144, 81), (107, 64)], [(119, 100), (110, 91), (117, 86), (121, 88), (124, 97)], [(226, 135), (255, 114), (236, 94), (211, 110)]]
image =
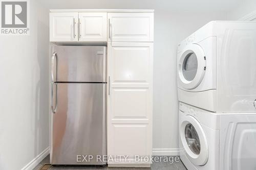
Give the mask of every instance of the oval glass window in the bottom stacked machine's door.
[(187, 124), (185, 127), (185, 137), (187, 141), (187, 145), (190, 148), (190, 150), (196, 154), (200, 154), (201, 145), (199, 136), (197, 134), (197, 131), (195, 127), (192, 124)]

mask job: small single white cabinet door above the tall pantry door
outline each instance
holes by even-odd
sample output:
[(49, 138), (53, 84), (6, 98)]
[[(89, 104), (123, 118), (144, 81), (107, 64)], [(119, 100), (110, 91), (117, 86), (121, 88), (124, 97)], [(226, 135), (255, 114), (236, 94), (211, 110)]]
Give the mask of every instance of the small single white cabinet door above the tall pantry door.
[(108, 22), (108, 41), (154, 41), (154, 13), (108, 13)]

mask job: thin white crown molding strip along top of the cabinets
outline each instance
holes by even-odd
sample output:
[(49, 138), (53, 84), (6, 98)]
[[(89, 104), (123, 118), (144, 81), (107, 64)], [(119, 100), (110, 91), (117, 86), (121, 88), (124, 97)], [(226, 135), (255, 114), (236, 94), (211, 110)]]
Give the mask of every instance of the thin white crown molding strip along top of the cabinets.
[(126, 12), (126, 13), (153, 13), (153, 9), (51, 9), (50, 12)]

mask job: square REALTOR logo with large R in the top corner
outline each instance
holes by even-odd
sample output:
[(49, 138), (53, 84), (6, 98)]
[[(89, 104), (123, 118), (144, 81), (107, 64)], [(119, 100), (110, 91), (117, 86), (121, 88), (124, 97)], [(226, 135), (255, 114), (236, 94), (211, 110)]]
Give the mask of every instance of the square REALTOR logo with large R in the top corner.
[(1, 1), (1, 34), (28, 34), (28, 1)]

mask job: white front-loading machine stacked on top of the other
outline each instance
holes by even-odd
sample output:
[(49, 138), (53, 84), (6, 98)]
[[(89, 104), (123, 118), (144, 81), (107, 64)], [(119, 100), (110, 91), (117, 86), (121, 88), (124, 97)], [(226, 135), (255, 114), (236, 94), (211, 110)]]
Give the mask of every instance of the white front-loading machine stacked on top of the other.
[(217, 113), (255, 112), (256, 22), (211, 21), (177, 51), (178, 98)]

